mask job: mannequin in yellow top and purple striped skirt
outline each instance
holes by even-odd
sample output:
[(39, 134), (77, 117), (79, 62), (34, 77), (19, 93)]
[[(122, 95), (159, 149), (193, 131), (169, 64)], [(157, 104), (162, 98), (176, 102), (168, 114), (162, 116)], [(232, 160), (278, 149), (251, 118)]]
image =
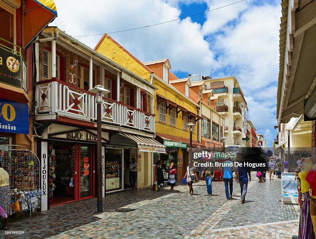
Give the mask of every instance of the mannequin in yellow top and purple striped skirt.
[[(301, 211), (300, 211), (298, 238), (314, 239), (315, 234), (314, 234), (313, 223), (312, 223), (312, 218), (310, 214), (310, 196), (309, 196), (310, 184), (306, 180), (307, 173), (312, 169), (312, 166), (314, 165), (314, 161), (312, 158), (306, 158), (304, 161), (305, 161), (304, 166), (302, 167), (301, 172), (298, 173), (298, 176), (301, 180)], [(315, 217), (316, 217), (316, 213), (315, 213)]]

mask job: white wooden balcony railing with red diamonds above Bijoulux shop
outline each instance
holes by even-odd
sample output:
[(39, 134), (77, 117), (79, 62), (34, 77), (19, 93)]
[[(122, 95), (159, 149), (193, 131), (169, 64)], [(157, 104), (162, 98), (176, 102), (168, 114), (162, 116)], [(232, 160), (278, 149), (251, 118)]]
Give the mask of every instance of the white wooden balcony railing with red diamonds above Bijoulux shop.
[[(95, 120), (95, 94), (59, 80), (37, 82), (38, 114), (53, 113), (81, 120)], [(155, 115), (103, 97), (102, 123), (155, 132)]]

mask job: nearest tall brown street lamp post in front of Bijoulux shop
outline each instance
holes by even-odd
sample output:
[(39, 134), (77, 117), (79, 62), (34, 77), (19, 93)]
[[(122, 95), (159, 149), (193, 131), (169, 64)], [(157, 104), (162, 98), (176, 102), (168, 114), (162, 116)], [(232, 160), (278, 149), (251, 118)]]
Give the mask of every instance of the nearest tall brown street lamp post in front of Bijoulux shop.
[(102, 131), (101, 131), (101, 103), (102, 95), (110, 91), (103, 88), (102, 85), (96, 85), (89, 90), (96, 94), (95, 103), (97, 104), (97, 174), (98, 174), (98, 194), (97, 194), (97, 210), (98, 213), (103, 212), (102, 202)]

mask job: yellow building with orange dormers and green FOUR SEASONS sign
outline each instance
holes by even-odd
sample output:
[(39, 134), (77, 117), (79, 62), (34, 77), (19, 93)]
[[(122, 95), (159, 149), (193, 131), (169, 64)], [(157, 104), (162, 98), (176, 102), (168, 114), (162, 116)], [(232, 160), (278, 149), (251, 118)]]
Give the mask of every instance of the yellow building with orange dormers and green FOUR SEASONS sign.
[[(171, 64), (168, 59), (143, 63), (107, 34), (100, 39), (94, 50), (158, 88), (154, 95), (155, 102), (150, 102), (150, 106), (155, 114), (157, 140), (167, 148), (166, 154), (153, 155), (153, 163), (160, 159), (165, 165), (168, 164), (168, 159), (173, 159), (177, 166), (177, 176), (179, 175), (181, 180), (180, 176), (185, 173), (182, 168), (185, 168), (188, 161), (187, 151), (190, 141), (190, 131), (186, 124), (189, 122), (196, 124), (198, 119), (202, 119), (198, 111), (198, 102), (201, 98), (189, 89), (189, 81), (179, 82), (179, 89), (170, 84), (170, 81), (179, 79), (169, 72)], [(141, 98), (139, 101), (139, 105), (142, 105)], [(200, 137), (199, 128), (195, 127), (192, 134), (193, 147), (202, 146)]]

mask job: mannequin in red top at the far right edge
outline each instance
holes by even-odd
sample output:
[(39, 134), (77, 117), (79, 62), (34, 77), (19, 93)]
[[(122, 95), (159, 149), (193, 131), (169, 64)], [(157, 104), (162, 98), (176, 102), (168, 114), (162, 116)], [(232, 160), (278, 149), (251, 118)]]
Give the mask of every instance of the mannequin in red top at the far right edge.
[(313, 223), (313, 231), (316, 235), (316, 164), (312, 166), (310, 171), (307, 173), (306, 181), (310, 184), (310, 214)]

